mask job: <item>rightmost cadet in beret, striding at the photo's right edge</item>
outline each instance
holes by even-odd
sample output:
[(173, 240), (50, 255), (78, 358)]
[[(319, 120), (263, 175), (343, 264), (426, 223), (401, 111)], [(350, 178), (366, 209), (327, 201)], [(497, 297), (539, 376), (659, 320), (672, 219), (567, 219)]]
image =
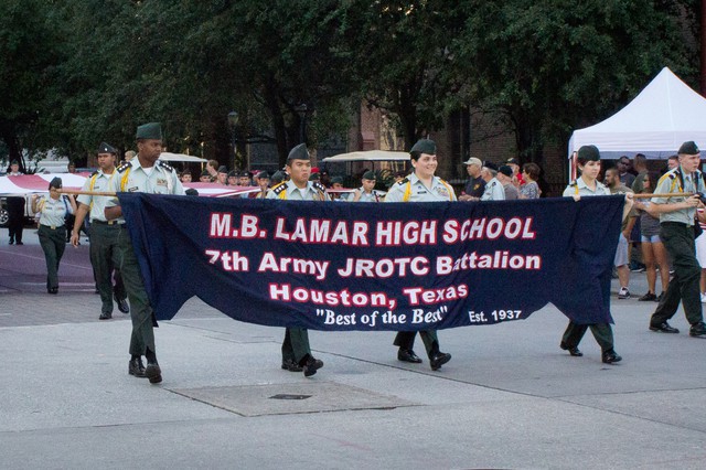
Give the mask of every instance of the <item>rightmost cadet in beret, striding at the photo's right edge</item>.
[[(680, 301), (691, 323), (689, 335), (705, 337), (706, 324), (700, 302), (702, 268), (696, 260), (694, 223), (696, 207), (703, 207), (699, 191), (704, 191), (704, 178), (698, 170), (700, 151), (695, 142), (682, 143), (678, 150), (678, 168), (668, 171), (657, 182), (650, 204), (652, 214), (660, 215), (660, 239), (664, 243), (674, 266), (674, 278), (650, 319), (650, 330), (678, 333), (670, 325)], [(691, 196), (662, 197), (660, 194), (692, 193)]]

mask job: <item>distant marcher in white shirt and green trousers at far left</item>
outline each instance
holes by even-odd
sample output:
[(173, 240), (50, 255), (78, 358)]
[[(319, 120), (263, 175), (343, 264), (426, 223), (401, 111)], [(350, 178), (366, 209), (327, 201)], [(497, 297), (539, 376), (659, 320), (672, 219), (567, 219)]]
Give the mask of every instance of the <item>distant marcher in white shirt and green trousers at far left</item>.
[(58, 292), (58, 265), (66, 249), (66, 214), (76, 212), (73, 195), (62, 197), (62, 179), (49, 183), (49, 195), (32, 194), (32, 212), (40, 213), (40, 245), (46, 260), (46, 291)]

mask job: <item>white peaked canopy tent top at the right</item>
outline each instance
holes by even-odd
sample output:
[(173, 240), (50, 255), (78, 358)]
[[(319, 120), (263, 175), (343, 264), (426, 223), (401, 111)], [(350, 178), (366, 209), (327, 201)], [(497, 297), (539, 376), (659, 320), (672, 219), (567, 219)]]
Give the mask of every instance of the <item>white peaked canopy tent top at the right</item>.
[(603, 159), (635, 153), (667, 159), (688, 140), (706, 148), (706, 99), (664, 67), (620, 111), (574, 131), (568, 156), (581, 146), (593, 145)]

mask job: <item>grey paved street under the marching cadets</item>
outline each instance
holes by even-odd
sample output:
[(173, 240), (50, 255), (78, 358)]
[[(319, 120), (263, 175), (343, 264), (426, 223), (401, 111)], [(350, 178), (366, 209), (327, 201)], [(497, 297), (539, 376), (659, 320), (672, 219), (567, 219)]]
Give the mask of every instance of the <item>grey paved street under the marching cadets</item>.
[(681, 334), (648, 330), (644, 274), (632, 299), (613, 285), (616, 365), (590, 333), (584, 357), (559, 350), (567, 320), (547, 306), (441, 331), (453, 359), (438, 372), (398, 362), (392, 333), (312, 331), (325, 366), (304, 378), (279, 367), (281, 329), (191, 299), (156, 331), (150, 385), (127, 374), (129, 316), (97, 319), (87, 244), (67, 247), (50, 296), (35, 238), (8, 246), (0, 229), (2, 468), (706, 467), (706, 340), (683, 312)]

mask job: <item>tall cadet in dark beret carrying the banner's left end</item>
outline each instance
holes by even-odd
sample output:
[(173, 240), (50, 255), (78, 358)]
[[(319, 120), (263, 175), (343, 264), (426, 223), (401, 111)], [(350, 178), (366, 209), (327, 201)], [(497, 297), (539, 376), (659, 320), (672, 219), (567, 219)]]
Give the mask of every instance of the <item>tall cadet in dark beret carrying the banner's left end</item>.
[[(158, 160), (162, 151), (162, 128), (159, 122), (149, 122), (137, 128), (137, 158), (120, 165), (108, 185), (117, 192), (143, 192), (151, 194), (184, 194), (176, 171)], [(131, 307), (132, 334), (130, 337), (130, 362), (128, 373), (136, 377), (148, 377), (150, 383), (162, 382), (162, 371), (157, 362), (152, 307), (150, 306), (130, 235), (125, 226), (122, 209), (117, 197), (106, 202), (107, 221), (118, 225), (113, 264), (122, 274)], [(147, 367), (141, 356), (147, 359)]]

